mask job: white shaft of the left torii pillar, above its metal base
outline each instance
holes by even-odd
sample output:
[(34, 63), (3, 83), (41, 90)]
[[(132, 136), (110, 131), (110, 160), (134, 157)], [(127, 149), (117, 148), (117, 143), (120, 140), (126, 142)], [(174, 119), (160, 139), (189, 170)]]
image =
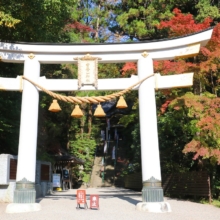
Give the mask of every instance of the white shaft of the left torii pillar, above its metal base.
[[(40, 76), (38, 60), (25, 60), (24, 76), (33, 81), (38, 80)], [(35, 182), (38, 104), (39, 92), (37, 88), (24, 80), (16, 181), (26, 178), (28, 181)]]

